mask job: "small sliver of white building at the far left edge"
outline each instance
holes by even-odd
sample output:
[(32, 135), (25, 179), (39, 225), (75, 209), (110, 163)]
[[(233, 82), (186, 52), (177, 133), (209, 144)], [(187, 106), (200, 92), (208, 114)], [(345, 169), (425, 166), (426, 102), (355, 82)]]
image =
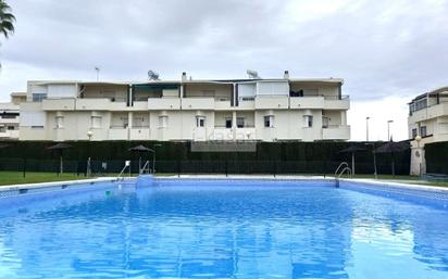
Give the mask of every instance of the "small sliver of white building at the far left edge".
[(0, 140), (18, 140), (18, 105), (26, 93), (11, 93), (11, 102), (0, 103)]

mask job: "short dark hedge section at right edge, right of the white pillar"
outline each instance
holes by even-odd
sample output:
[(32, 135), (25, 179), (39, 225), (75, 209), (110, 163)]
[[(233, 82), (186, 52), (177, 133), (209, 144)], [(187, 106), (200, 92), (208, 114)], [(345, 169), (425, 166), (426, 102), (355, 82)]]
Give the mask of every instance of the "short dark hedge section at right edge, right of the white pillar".
[(448, 175), (448, 141), (425, 144), (426, 173)]

